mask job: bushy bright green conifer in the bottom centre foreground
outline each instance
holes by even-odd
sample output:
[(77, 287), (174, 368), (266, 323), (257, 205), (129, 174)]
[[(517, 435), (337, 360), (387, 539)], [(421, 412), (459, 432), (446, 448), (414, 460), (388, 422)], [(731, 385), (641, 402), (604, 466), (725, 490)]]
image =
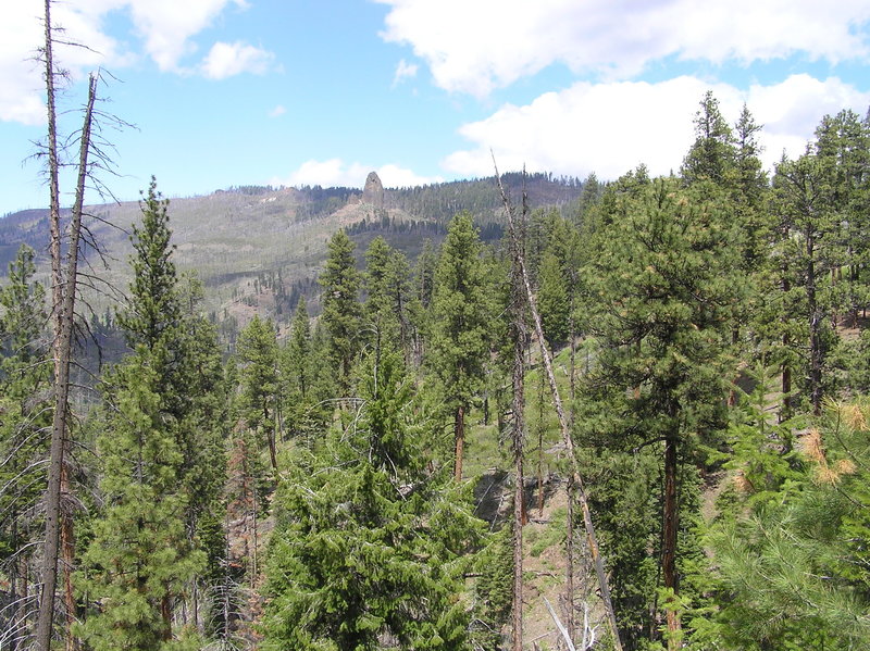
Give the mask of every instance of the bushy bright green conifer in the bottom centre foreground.
[[(464, 649), (462, 575), (477, 525), (444, 473), (395, 353), (373, 353), (355, 423), (289, 464), (275, 498), (265, 649)], [(465, 560), (463, 560), (465, 559)]]

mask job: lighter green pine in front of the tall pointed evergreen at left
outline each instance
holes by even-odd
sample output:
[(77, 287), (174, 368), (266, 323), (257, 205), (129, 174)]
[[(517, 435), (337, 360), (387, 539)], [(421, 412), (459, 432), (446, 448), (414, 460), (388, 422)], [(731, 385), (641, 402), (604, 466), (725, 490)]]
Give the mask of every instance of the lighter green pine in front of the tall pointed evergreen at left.
[(184, 456), (161, 413), (158, 374), (142, 354), (112, 374), (98, 436), (104, 509), (76, 580), (95, 612), (79, 628), (95, 651), (167, 649), (172, 601), (203, 568), (177, 490)]

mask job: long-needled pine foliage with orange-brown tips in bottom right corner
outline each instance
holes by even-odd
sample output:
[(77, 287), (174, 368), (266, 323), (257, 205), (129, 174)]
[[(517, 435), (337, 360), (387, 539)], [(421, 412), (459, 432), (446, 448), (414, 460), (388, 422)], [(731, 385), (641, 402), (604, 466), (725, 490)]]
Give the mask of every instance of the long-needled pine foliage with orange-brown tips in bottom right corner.
[(863, 649), (870, 643), (867, 408), (832, 404), (801, 441), (803, 468), (776, 499), (753, 501), (709, 542), (729, 596), (718, 622), (741, 649)]

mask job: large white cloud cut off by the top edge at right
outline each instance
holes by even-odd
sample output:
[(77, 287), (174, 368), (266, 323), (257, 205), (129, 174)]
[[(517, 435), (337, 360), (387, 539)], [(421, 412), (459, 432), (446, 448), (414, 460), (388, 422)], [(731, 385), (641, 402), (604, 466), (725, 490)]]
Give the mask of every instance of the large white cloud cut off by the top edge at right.
[(866, 0), (377, 0), (382, 38), (409, 45), (450, 91), (486, 96), (552, 63), (630, 78), (667, 57), (750, 63), (803, 52), (867, 60)]

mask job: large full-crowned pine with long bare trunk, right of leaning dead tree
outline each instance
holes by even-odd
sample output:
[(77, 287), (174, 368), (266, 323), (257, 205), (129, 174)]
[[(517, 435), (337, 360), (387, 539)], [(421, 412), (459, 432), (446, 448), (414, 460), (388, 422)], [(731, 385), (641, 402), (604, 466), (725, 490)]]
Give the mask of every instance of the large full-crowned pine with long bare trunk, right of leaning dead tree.
[[(616, 425), (625, 433), (623, 445), (663, 442), (661, 572), (673, 599), (680, 591), (678, 534), (685, 530), (681, 467), (700, 445), (718, 445), (710, 437), (721, 427), (723, 377), (733, 377), (723, 330), (741, 284), (721, 202), (673, 178), (627, 187), (610, 201), (613, 212), (589, 271), (599, 303), (598, 366), (589, 387), (607, 387), (609, 409), (627, 416)], [(680, 635), (676, 610), (666, 603), (671, 648)]]

